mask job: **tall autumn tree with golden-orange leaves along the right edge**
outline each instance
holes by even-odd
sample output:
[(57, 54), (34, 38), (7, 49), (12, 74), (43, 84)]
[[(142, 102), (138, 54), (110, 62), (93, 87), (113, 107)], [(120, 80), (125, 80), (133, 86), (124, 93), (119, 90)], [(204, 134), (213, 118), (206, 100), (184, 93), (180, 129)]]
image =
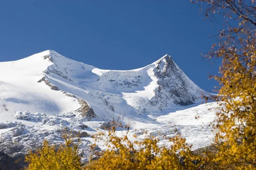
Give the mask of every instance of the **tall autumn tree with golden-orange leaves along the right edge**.
[(254, 0), (192, 0), (214, 22), (223, 17), (224, 29), (205, 57), (221, 58), (221, 111), (215, 128), (218, 153), (214, 169), (256, 169), (256, 6)]

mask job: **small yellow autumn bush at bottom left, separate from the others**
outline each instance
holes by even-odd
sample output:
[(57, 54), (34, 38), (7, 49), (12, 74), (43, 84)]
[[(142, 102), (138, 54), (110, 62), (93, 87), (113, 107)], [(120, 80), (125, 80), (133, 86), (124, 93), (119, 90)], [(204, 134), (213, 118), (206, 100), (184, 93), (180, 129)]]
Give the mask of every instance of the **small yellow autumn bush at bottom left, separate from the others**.
[(78, 145), (64, 135), (65, 143), (60, 146), (44, 141), (42, 148), (30, 151), (26, 156), (28, 170), (80, 170), (81, 155)]

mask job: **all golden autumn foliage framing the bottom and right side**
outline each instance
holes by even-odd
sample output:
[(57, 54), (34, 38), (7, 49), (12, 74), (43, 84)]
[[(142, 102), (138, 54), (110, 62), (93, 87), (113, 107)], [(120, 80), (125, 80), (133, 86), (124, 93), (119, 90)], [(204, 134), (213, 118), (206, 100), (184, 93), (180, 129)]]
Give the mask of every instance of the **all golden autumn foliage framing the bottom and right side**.
[[(77, 145), (71, 139), (56, 148), (47, 142), (26, 160), (29, 170), (180, 170), (256, 169), (256, 6), (253, 0), (192, 0), (201, 3), (207, 18), (224, 18), (224, 29), (205, 57), (220, 58), (218, 97), (221, 111), (212, 126), (218, 129), (211, 149), (192, 152), (180, 136), (159, 147), (154, 136), (131, 142), (116, 136), (115, 126), (106, 136), (108, 150), (97, 153), (81, 167)], [(101, 140), (103, 133), (95, 136)], [(136, 137), (136, 136), (134, 136)], [(179, 155), (177, 155), (177, 152)]]

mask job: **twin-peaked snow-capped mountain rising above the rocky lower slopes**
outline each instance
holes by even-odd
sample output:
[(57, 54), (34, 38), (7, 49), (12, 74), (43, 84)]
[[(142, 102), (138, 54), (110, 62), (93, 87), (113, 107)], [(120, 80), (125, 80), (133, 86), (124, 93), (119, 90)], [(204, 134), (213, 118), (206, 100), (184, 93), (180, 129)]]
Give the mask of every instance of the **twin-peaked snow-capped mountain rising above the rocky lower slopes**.
[[(109, 113), (143, 115), (174, 105), (191, 105), (205, 93), (169, 55), (144, 68), (101, 70), (44, 51), (0, 63), (1, 103), (9, 112), (81, 113), (88, 119)], [(27, 96), (27, 97), (25, 97)], [(105, 112), (108, 112), (107, 114)]]

